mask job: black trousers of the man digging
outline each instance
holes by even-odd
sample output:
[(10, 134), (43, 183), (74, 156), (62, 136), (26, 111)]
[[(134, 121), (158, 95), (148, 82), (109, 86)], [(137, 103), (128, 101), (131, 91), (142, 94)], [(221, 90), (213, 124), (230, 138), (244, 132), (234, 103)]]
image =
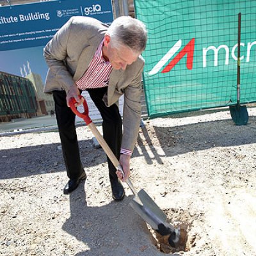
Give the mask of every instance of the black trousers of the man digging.
[[(109, 147), (119, 159), (122, 143), (122, 118), (116, 104), (107, 107), (102, 98), (107, 92), (108, 87), (88, 89), (91, 99), (102, 116), (103, 137)], [(66, 92), (54, 91), (53, 98), (55, 102), (55, 114), (60, 133), (61, 147), (69, 179), (77, 179), (83, 172), (79, 147), (77, 142), (75, 119), (76, 115), (68, 108)], [(90, 111), (90, 109), (89, 109)], [(89, 112), (90, 115), (90, 112)], [(116, 168), (108, 158), (109, 178), (117, 179)]]

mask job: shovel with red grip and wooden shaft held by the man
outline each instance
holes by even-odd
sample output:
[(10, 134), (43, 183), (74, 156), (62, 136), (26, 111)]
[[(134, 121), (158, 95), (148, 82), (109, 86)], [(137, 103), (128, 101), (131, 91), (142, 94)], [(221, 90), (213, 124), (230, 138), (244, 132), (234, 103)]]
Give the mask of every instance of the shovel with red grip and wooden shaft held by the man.
[[(82, 96), (80, 97), (83, 98)], [(111, 148), (109, 148), (108, 144), (106, 143), (98, 129), (93, 124), (90, 116), (88, 115), (89, 110), (86, 100), (83, 100), (83, 113), (77, 111), (75, 106), (76, 100), (74, 98), (70, 99), (69, 104), (72, 111), (80, 118), (83, 118), (84, 122), (86, 122), (93, 135), (99, 142), (100, 146), (103, 148), (104, 152), (107, 154), (113, 165), (116, 167), (116, 170), (120, 170), (120, 172), (122, 172), (122, 174), (124, 175), (122, 166), (120, 165), (118, 159), (116, 159), (115, 154), (113, 154)], [(159, 232), (159, 234), (161, 234), (162, 236), (170, 235), (168, 241), (171, 246), (178, 246), (180, 240), (179, 228), (174, 228), (172, 225), (170, 225), (170, 223), (166, 221), (166, 214), (164, 214), (164, 212), (156, 205), (156, 203), (152, 200), (152, 198), (150, 198), (150, 196), (144, 191), (144, 189), (141, 189), (138, 193), (136, 193), (136, 190), (134, 189), (131, 180), (127, 179), (126, 182), (134, 195), (134, 198), (129, 203), (132, 209), (134, 209), (134, 211), (136, 211), (141, 216), (141, 218), (148, 223), (148, 225), (150, 225), (154, 230)]]

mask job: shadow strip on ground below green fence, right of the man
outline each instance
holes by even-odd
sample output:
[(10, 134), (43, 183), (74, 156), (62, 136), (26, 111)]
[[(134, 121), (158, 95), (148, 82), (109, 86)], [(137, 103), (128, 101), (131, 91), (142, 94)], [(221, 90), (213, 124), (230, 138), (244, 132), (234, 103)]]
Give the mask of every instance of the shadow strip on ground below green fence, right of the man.
[[(170, 121), (172, 122), (172, 121)], [(256, 116), (247, 125), (234, 125), (232, 120), (218, 120), (198, 124), (157, 127), (141, 127), (138, 145), (133, 157), (144, 156), (148, 164), (161, 157), (177, 156), (213, 147), (233, 147), (256, 143)], [(147, 147), (147, 148), (146, 148)], [(163, 154), (157, 149), (161, 147)]]

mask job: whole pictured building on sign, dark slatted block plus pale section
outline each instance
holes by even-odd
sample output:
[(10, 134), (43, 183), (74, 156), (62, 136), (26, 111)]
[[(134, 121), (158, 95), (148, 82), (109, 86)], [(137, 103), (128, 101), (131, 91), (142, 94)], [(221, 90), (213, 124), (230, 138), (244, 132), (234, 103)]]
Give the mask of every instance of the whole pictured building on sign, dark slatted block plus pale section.
[(0, 72), (0, 122), (50, 115), (54, 111), (54, 100), (43, 90), (38, 74), (29, 72), (26, 77), (20, 77)]

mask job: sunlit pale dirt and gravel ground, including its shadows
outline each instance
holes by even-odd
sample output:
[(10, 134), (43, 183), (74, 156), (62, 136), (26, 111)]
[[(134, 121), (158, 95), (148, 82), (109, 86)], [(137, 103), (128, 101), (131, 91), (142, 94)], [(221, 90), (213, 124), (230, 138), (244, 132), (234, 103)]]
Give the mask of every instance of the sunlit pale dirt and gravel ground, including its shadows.
[(0, 137), (0, 254), (63, 256), (256, 255), (256, 109), (234, 125), (227, 109), (145, 120), (131, 180), (176, 227), (174, 249), (129, 206), (113, 202), (102, 148), (77, 127), (85, 182), (63, 195), (57, 131)]

